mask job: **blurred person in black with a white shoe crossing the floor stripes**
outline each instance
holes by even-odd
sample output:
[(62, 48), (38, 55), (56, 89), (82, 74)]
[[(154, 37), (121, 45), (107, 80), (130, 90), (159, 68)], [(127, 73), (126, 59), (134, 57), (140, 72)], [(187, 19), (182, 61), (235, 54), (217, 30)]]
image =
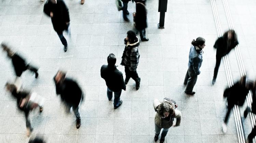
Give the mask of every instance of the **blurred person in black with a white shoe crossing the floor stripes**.
[(253, 90), (253, 82), (246, 76), (242, 76), (240, 80), (230, 88), (225, 89), (223, 97), (227, 97), (228, 111), (222, 125), (224, 133), (227, 132), (227, 123), (231, 109), (235, 106), (243, 106), (246, 96), (250, 90)]

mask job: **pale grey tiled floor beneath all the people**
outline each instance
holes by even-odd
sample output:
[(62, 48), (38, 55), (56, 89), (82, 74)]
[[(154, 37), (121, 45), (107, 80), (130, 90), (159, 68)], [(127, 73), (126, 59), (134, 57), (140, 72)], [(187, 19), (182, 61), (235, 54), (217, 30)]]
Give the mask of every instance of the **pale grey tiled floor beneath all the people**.
[[(152, 143), (154, 137), (154, 112), (152, 101), (171, 97), (182, 112), (181, 125), (170, 128), (165, 142), (176, 143), (227, 143), (237, 142), (233, 115), (230, 115), (228, 132), (224, 135), (221, 124), (225, 117), (226, 102), (222, 98), (227, 86), (223, 64), (216, 84), (211, 86), (215, 66), (212, 48), (217, 31), (208, 0), (169, 0), (165, 29), (159, 30), (158, 1), (148, 0), (148, 42), (139, 46), (138, 74), (141, 87), (128, 83), (122, 92), (123, 105), (114, 110), (107, 100), (106, 85), (100, 78), (100, 66), (107, 64), (106, 57), (114, 53), (117, 63), (124, 49), (123, 38), (133, 23), (123, 21), (114, 0), (65, 0), (71, 18), (69, 48), (64, 53), (62, 44), (52, 28), (51, 20), (43, 14), (39, 0), (0, 0), (0, 42), (8, 41), (19, 53), (40, 67), (39, 78), (26, 72), (22, 75), (26, 88), (36, 91), (47, 100), (44, 111), (31, 113), (34, 126), (32, 137), (41, 136), (48, 143)], [(256, 73), (256, 13), (255, 0), (229, 0), (235, 30), (238, 33), (245, 68)], [(228, 29), (221, 1), (216, 1), (222, 30)], [(130, 13), (135, 4), (129, 3)], [(132, 20), (132, 15), (129, 15)], [(184, 94), (183, 79), (187, 71), (190, 42), (198, 36), (206, 39), (201, 74), (194, 90)], [(231, 71), (239, 78), (234, 52), (230, 53)], [(0, 142), (25, 143), (25, 118), (16, 108), (16, 101), (3, 87), (14, 80), (10, 60), (0, 56)], [(64, 105), (56, 96), (53, 76), (58, 69), (68, 71), (86, 93), (81, 106), (82, 125), (75, 127), (73, 114), (64, 112)], [(124, 67), (119, 66), (124, 74)], [(241, 109), (242, 110), (242, 109)], [(249, 119), (244, 119), (245, 133), (251, 131)]]

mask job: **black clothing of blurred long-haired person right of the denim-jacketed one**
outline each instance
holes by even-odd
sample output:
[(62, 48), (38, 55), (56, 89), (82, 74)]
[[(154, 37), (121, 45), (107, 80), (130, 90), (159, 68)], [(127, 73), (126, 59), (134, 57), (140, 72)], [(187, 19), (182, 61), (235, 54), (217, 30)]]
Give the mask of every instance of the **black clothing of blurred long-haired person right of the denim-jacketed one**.
[(227, 55), (237, 45), (238, 45), (237, 40), (231, 40), (230, 42), (228, 42), (228, 39), (224, 38), (224, 37), (219, 37), (216, 40), (216, 42), (213, 46), (215, 49), (217, 49), (216, 50), (216, 65), (214, 68), (213, 78), (215, 78), (215, 79), (217, 78), (221, 58), (223, 56)]

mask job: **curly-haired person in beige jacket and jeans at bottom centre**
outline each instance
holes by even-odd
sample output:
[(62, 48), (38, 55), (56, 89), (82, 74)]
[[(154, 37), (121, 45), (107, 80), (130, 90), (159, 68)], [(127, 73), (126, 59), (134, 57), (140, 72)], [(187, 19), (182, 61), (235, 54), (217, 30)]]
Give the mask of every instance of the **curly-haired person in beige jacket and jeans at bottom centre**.
[[(153, 106), (155, 111), (157, 112), (154, 118), (155, 121), (155, 137), (154, 141), (158, 140), (158, 136), (160, 135), (160, 131), (162, 130), (160, 143), (164, 142), (164, 138), (170, 127), (179, 126), (181, 120), (181, 112), (177, 110), (178, 107), (174, 100), (169, 98), (164, 98), (163, 102), (159, 102), (159, 100), (155, 99), (153, 101)], [(176, 124), (173, 124), (174, 118), (176, 118)]]

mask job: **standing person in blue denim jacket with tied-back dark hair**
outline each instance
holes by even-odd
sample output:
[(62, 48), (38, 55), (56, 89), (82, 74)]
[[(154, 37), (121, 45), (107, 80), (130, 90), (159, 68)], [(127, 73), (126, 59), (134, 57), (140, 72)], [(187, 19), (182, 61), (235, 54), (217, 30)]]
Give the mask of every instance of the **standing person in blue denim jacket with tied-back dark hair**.
[(185, 93), (193, 95), (196, 92), (193, 91), (197, 82), (197, 76), (201, 73), (200, 67), (203, 62), (202, 51), (205, 47), (205, 39), (198, 37), (191, 42), (191, 48), (189, 51), (188, 71), (184, 79), (184, 85), (186, 86)]

